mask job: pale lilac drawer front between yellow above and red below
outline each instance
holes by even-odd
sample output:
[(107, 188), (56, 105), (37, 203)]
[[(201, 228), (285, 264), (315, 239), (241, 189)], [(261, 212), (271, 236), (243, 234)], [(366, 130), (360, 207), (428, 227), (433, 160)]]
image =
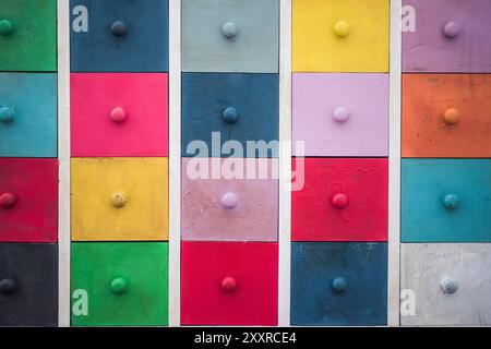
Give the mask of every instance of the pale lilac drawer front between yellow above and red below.
[(292, 88), (294, 141), (306, 156), (387, 156), (387, 74), (297, 73)]

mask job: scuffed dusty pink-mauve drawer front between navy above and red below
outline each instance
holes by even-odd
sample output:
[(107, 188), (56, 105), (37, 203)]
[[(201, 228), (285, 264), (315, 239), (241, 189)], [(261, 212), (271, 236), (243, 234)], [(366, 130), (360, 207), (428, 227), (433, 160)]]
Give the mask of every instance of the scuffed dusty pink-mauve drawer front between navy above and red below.
[[(182, 240), (195, 241), (276, 241), (278, 230), (278, 160), (255, 158), (214, 158), (221, 169), (244, 169), (243, 179), (193, 179), (196, 161), (208, 161), (208, 177), (219, 172), (211, 158), (182, 159)], [(230, 163), (232, 161), (232, 163)], [(248, 163), (247, 163), (248, 161)], [(206, 168), (204, 163), (201, 163)], [(233, 166), (229, 166), (233, 164)], [(246, 165), (252, 164), (252, 165)], [(262, 170), (262, 177), (247, 171)], [(219, 170), (218, 170), (219, 171)], [(203, 173), (203, 172), (202, 172)], [(224, 178), (225, 177), (225, 178)], [(227, 193), (231, 193), (226, 195)], [(233, 197), (235, 195), (235, 197)], [(235, 205), (236, 204), (236, 205)], [(228, 206), (228, 208), (226, 207)]]

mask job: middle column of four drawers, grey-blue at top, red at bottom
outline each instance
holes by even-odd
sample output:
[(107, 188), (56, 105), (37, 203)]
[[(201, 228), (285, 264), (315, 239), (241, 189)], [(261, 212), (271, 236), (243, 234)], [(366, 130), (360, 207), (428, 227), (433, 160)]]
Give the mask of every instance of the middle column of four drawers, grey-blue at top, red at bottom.
[(276, 325), (279, 1), (181, 5), (181, 323)]

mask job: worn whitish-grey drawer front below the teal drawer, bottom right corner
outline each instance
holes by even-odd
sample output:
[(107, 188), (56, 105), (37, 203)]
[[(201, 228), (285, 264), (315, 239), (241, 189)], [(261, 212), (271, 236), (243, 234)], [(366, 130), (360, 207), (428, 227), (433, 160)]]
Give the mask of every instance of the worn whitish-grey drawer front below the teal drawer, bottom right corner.
[(402, 325), (491, 325), (491, 244), (404, 243), (400, 258)]

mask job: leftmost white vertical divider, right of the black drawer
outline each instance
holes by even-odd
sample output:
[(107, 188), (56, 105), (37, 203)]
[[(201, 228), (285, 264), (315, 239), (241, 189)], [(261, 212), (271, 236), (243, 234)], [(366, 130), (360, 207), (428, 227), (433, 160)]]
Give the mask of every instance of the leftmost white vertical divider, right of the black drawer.
[(58, 0), (58, 326), (70, 326), (70, 7)]

